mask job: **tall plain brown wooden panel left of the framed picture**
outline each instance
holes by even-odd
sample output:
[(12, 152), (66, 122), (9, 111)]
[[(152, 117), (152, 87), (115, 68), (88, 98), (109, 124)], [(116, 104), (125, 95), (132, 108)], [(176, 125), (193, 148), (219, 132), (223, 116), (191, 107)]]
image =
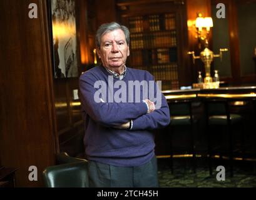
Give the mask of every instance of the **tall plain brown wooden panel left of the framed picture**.
[[(42, 186), (41, 172), (54, 164), (55, 126), (46, 1), (29, 19), (31, 1), (0, 1), (1, 126), (3, 166), (18, 168), (17, 186)], [(39, 181), (29, 181), (29, 166)]]

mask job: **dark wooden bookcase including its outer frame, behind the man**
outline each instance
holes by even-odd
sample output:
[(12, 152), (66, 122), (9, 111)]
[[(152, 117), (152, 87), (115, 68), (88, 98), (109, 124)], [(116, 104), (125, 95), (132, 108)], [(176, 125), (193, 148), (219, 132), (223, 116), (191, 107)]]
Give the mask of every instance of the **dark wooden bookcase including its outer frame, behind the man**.
[(162, 90), (190, 82), (187, 9), (180, 0), (116, 0), (118, 17), (130, 29), (130, 68), (149, 71)]

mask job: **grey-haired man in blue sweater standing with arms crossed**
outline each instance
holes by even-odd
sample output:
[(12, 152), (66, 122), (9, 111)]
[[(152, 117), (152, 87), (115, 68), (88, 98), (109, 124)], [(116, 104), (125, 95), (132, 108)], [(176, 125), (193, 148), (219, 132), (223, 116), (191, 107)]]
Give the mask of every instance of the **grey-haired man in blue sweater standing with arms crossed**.
[[(151, 130), (167, 126), (170, 112), (153, 76), (125, 65), (129, 43), (127, 27), (101, 25), (96, 47), (102, 64), (79, 79), (90, 187), (158, 187)], [(152, 91), (160, 93), (158, 106), (148, 97)]]

